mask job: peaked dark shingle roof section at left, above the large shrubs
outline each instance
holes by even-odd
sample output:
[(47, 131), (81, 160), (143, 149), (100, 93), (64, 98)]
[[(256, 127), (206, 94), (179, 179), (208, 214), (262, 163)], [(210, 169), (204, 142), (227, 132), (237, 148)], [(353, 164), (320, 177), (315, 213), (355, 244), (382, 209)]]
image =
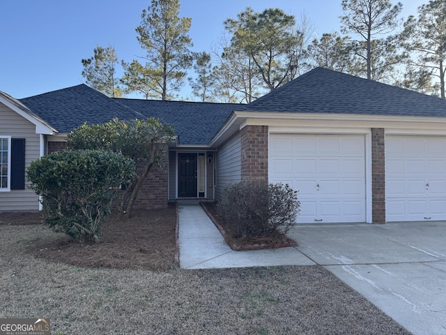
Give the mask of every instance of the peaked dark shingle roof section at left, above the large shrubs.
[(141, 114), (117, 103), (94, 89), (80, 84), (38, 96), (20, 99), (33, 113), (59, 133), (69, 133), (84, 122), (103, 124), (118, 119), (141, 118)]

